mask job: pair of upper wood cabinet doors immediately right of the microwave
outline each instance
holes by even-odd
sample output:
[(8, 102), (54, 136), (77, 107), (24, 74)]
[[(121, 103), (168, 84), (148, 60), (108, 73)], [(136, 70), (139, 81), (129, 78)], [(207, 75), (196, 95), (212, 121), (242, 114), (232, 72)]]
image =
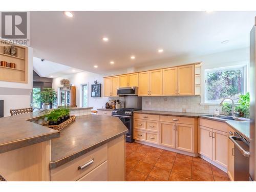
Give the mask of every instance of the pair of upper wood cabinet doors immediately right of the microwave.
[(160, 96), (163, 93), (163, 70), (139, 73), (139, 96)]

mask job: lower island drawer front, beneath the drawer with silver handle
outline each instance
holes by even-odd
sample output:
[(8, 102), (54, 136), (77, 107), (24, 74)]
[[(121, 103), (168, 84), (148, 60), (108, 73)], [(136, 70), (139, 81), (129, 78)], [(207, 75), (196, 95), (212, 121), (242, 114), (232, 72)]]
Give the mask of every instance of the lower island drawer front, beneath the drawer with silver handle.
[(108, 161), (100, 164), (77, 181), (108, 181)]

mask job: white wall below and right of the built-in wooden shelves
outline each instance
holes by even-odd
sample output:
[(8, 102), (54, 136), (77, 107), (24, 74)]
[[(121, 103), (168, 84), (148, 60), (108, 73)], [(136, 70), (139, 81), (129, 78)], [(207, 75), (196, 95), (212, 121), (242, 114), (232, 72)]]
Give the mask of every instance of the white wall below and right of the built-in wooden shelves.
[[(0, 81), (0, 100), (4, 100), (4, 116), (10, 116), (10, 109), (30, 108), (30, 93), (33, 87), (33, 49), (28, 48), (28, 83)], [(12, 95), (9, 95), (13, 88)], [(23, 91), (20, 91), (23, 89)], [(13, 94), (15, 92), (15, 94)]]

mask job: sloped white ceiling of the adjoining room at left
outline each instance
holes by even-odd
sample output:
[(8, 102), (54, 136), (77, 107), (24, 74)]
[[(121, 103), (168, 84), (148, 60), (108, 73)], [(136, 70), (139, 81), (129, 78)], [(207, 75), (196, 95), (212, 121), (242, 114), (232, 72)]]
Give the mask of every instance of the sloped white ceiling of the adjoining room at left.
[(55, 78), (62, 75), (78, 73), (82, 70), (61, 65), (48, 60), (41, 61), (41, 58), (33, 57), (33, 70), (41, 77)]

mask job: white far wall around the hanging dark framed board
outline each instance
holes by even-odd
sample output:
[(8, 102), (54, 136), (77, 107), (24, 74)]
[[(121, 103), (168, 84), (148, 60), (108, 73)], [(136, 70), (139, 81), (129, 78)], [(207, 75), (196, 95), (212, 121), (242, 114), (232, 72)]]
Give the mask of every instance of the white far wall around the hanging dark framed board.
[[(70, 80), (70, 83), (76, 86), (76, 105), (81, 106), (81, 84), (88, 83), (88, 106), (93, 107), (94, 109), (102, 108), (102, 106), (105, 106), (105, 103), (109, 101), (108, 97), (103, 97), (103, 76), (87, 71), (83, 71), (80, 73), (75, 73), (71, 75), (65, 75), (58, 78), (53, 78), (52, 87), (55, 89), (55, 91), (58, 91), (58, 87), (62, 87), (60, 84), (60, 80), (66, 78)], [(98, 83), (101, 83), (101, 97), (91, 97), (91, 86), (94, 83), (94, 80), (97, 80)]]

